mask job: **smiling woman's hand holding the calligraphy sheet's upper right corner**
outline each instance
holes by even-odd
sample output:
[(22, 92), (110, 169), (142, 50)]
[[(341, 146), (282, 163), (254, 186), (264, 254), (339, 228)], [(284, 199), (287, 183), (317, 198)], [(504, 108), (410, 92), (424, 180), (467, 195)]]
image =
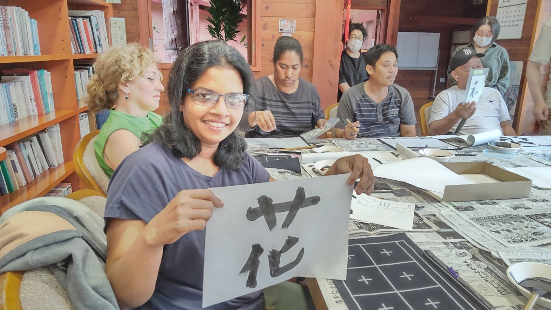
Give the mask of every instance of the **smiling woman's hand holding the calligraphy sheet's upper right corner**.
[(348, 184), (352, 185), (359, 178), (358, 186), (356, 186), (356, 194), (366, 193), (369, 195), (375, 185), (373, 170), (367, 158), (361, 155), (347, 156), (337, 159), (337, 161), (329, 168), (325, 175), (351, 173), (348, 178)]

